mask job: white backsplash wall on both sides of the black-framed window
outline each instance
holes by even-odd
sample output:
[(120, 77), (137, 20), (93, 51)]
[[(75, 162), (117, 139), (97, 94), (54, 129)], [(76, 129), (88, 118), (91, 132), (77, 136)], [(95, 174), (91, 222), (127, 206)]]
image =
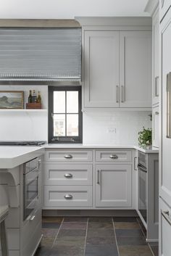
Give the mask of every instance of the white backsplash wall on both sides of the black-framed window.
[[(0, 90), (41, 91), (43, 108), (48, 108), (48, 86), (0, 86)], [(138, 131), (151, 127), (149, 112), (88, 110), (83, 112), (83, 144), (138, 144)], [(109, 129), (116, 128), (116, 133)], [(0, 111), (0, 141), (48, 140), (47, 112)]]

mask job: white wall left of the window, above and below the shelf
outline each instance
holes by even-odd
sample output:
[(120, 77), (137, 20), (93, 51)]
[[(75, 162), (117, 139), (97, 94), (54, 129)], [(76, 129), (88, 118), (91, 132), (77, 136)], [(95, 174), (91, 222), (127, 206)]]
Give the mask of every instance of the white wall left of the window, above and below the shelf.
[[(0, 90), (24, 91), (24, 107), (29, 90), (41, 91), (43, 109), (48, 107), (47, 86), (0, 86)], [(0, 111), (0, 141), (48, 140), (47, 112)]]

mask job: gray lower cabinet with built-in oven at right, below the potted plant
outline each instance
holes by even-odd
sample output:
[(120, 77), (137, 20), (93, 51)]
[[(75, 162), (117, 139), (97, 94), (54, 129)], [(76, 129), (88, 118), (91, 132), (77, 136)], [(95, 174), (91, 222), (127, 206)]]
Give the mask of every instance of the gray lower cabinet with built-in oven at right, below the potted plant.
[(146, 228), (146, 241), (158, 241), (159, 154), (138, 151), (138, 215)]

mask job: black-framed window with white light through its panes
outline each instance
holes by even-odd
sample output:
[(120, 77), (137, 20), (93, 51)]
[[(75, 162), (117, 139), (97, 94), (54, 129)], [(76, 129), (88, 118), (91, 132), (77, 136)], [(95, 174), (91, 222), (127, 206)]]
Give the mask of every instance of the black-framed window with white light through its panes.
[(81, 86), (49, 86), (49, 143), (82, 143)]

